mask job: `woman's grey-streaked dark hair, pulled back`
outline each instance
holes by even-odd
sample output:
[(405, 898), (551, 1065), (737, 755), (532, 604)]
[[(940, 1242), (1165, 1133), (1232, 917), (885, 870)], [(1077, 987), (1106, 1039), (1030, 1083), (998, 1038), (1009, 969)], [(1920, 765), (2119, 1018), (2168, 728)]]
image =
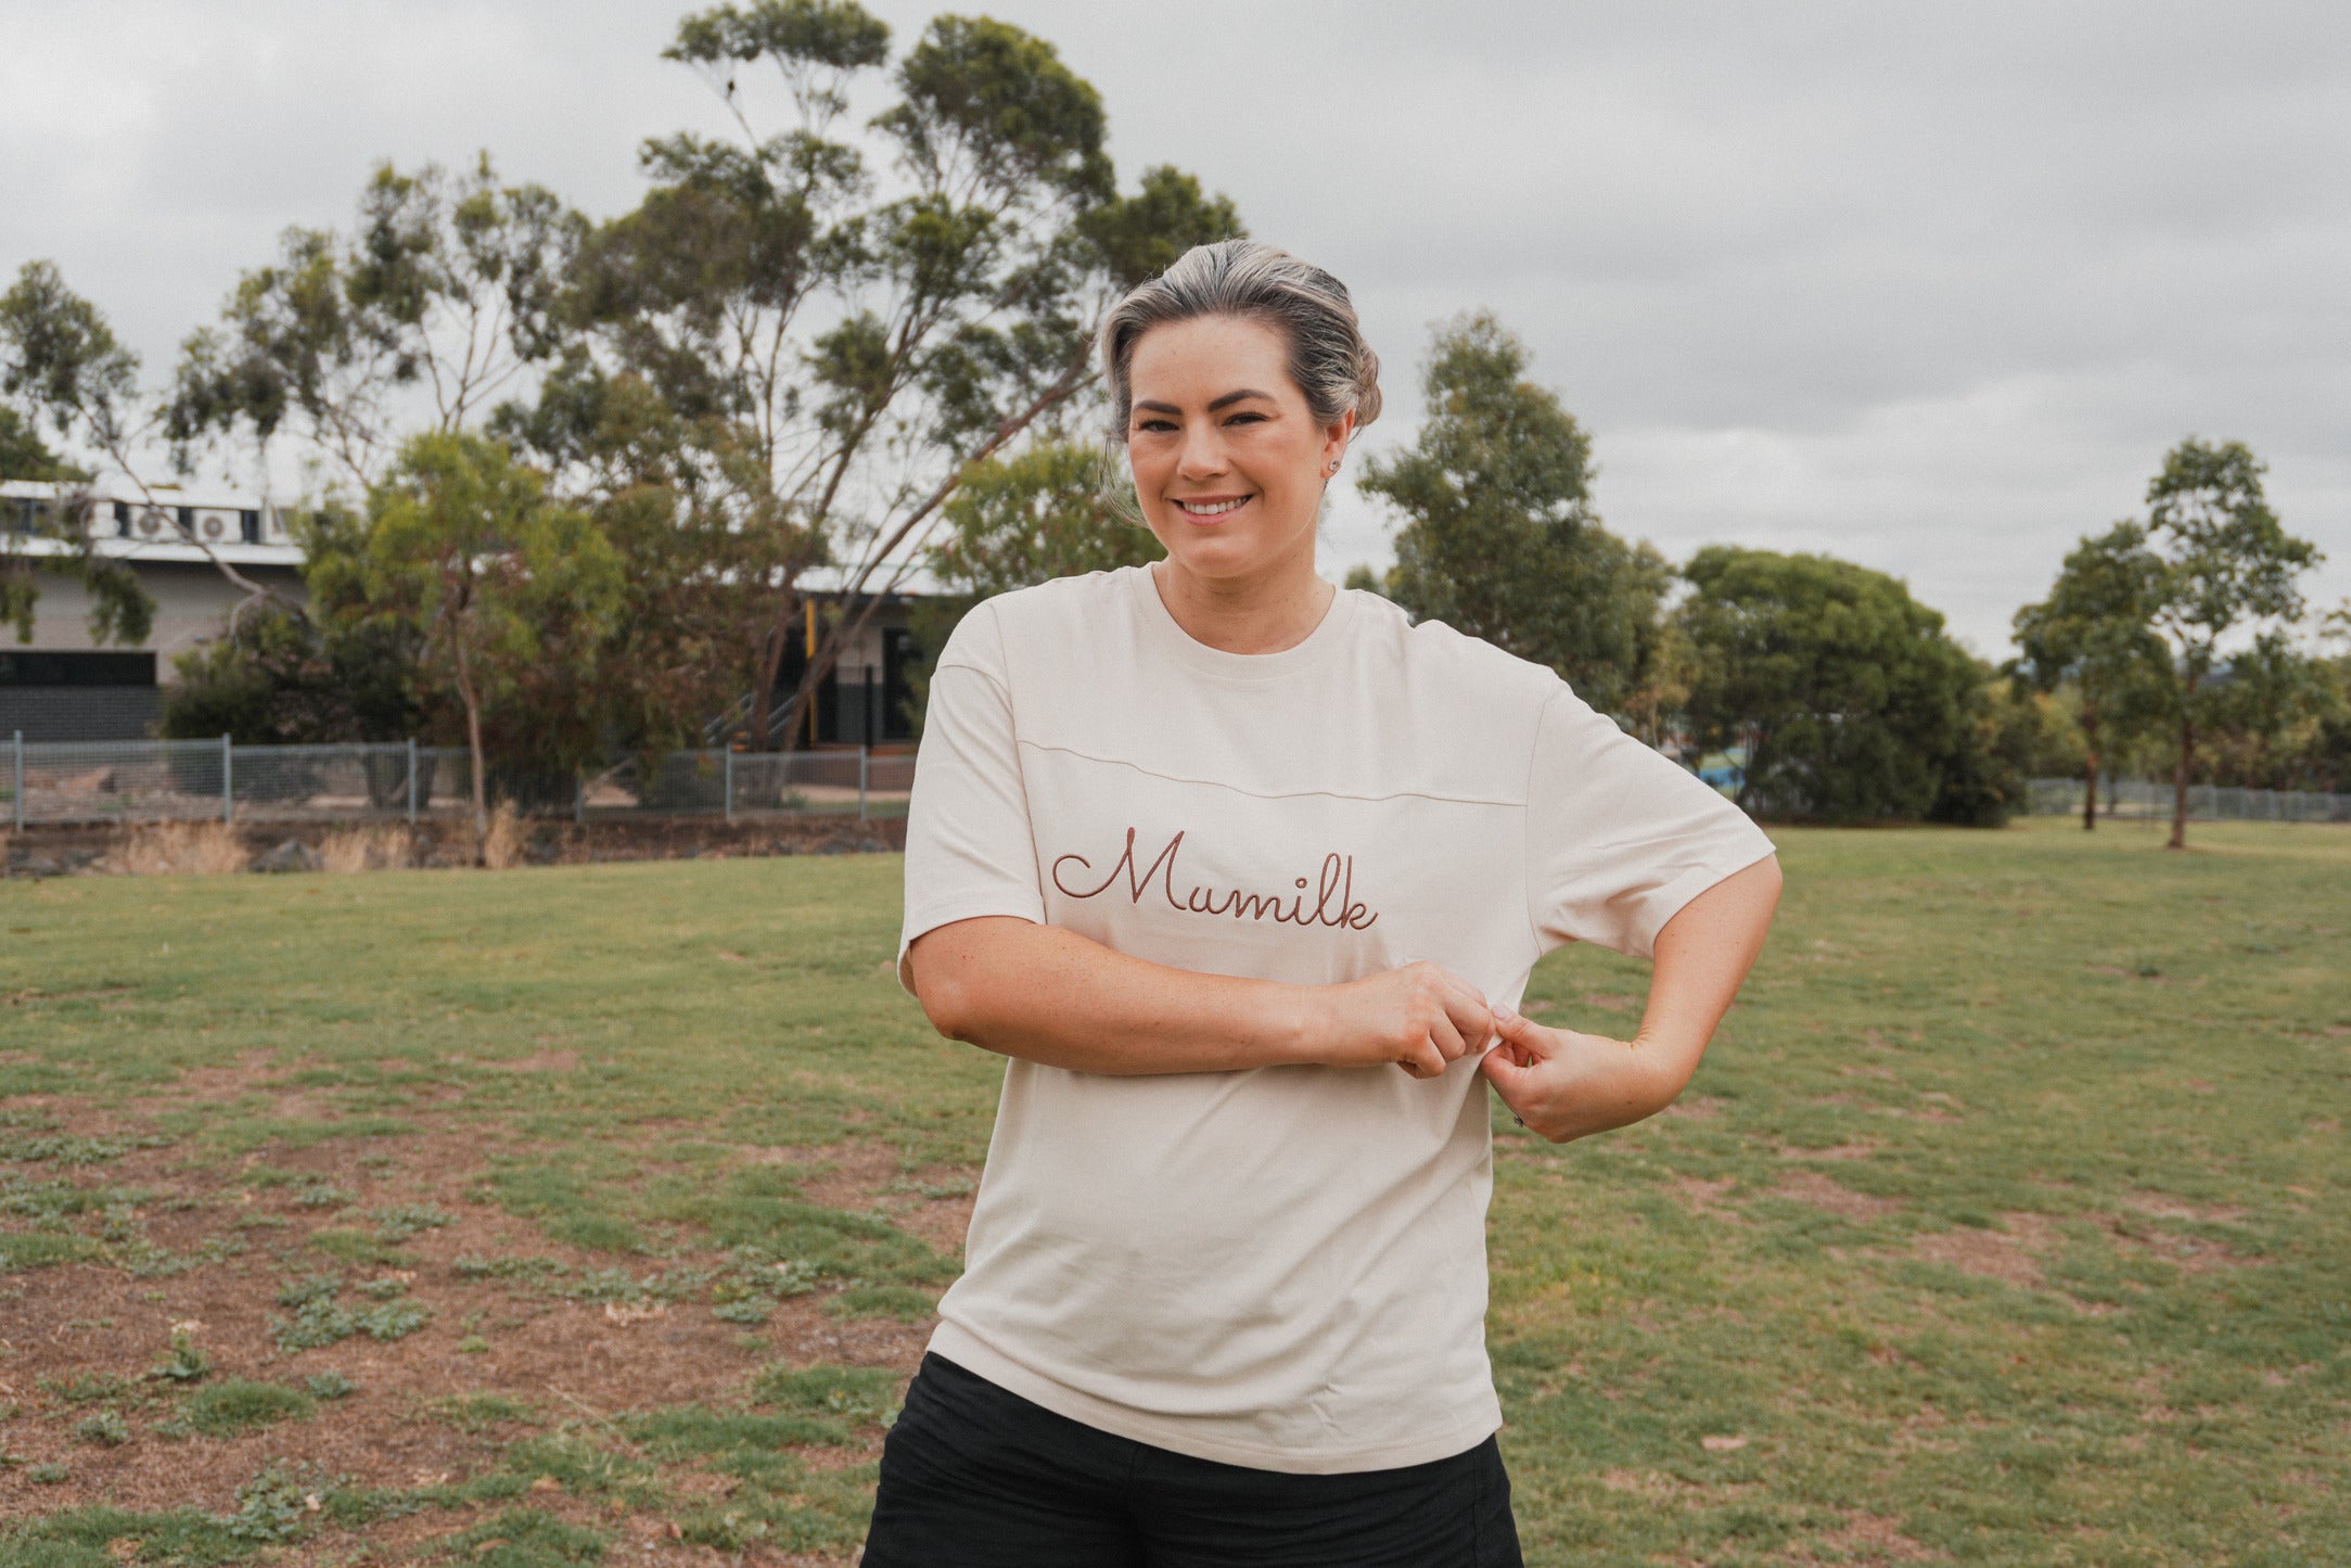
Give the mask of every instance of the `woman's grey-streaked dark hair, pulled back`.
[(1136, 411), (1136, 343), (1152, 327), (1201, 315), (1237, 315), (1281, 331), (1291, 343), (1291, 381), (1307, 395), (1319, 423), (1335, 425), (1349, 409), (1359, 430), (1380, 418), (1380, 355), (1364, 341), (1347, 284), (1286, 249), (1220, 240), (1194, 244), (1103, 317), (1114, 444), (1126, 442), (1126, 421)]

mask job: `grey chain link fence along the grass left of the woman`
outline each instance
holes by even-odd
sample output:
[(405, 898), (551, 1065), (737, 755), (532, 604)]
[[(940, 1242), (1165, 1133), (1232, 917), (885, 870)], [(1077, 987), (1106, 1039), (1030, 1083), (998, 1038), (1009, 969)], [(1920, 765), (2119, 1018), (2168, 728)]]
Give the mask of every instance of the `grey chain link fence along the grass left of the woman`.
[[(618, 811), (905, 816), (912, 752), (670, 752), (583, 778), (489, 771), (491, 799), (576, 820)], [(221, 741), (26, 741), (0, 755), (0, 825), (186, 820), (409, 820), (463, 816), (473, 762), (435, 745), (233, 745)]]

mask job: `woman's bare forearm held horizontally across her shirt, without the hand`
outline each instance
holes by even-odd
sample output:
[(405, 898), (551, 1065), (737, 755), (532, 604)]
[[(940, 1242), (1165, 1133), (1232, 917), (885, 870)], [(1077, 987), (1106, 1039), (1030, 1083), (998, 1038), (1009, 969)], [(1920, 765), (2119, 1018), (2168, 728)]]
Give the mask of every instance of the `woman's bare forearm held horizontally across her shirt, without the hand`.
[(1013, 917), (926, 931), (907, 959), (933, 1027), (999, 1056), (1110, 1074), (1319, 1060), (1317, 987), (1168, 969)]

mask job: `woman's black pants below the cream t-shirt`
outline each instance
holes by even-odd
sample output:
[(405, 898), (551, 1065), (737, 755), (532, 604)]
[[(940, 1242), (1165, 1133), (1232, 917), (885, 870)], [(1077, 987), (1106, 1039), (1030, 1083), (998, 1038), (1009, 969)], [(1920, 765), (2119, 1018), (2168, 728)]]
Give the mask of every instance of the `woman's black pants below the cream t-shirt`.
[(924, 1356), (882, 1448), (865, 1568), (1519, 1568), (1488, 1436), (1404, 1469), (1293, 1476), (1053, 1415)]

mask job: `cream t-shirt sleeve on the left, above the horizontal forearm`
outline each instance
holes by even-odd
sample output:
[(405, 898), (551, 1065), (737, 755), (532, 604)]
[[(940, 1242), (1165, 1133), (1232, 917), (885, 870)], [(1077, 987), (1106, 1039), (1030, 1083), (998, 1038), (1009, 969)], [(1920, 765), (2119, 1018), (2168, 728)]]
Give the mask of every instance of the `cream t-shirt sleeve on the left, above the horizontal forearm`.
[(980, 914), (1044, 922), (1004, 639), (987, 604), (964, 616), (931, 675), (905, 820), (898, 983), (917, 936)]

